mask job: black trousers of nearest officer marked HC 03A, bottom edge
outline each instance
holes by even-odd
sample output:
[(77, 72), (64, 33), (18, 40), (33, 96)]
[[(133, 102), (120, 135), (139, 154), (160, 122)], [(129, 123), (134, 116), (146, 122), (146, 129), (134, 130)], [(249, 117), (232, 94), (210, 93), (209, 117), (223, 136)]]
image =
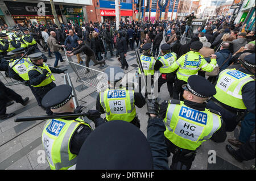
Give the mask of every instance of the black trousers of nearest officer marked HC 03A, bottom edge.
[(191, 169), (192, 162), (196, 157), (196, 151), (181, 149), (174, 145), (166, 138), (166, 145), (168, 148), (168, 157), (170, 153), (174, 154), (172, 157), (171, 170), (189, 170)]

